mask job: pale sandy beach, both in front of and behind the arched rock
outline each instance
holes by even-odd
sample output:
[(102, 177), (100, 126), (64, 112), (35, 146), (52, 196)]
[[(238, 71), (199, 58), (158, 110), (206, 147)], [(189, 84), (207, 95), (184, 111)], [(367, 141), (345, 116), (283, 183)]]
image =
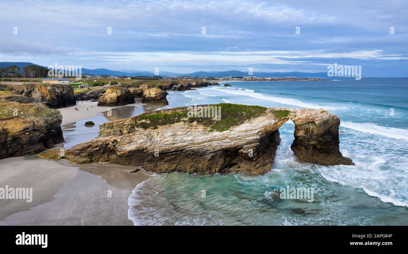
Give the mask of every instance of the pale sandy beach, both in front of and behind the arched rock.
[[(66, 142), (54, 148), (71, 147), (98, 136), (100, 123), (155, 109), (142, 103), (120, 107), (97, 104), (84, 101), (59, 109)], [(108, 108), (112, 109), (111, 114), (107, 114)], [(88, 119), (95, 121), (95, 126), (84, 126)], [(2, 159), (0, 165), (0, 188), (7, 185), (33, 190), (31, 202), (0, 200), (0, 225), (133, 225), (128, 218), (128, 198), (136, 185), (151, 175), (143, 170), (129, 173), (135, 170), (132, 166), (77, 165), (64, 159), (39, 159), (35, 155)]]

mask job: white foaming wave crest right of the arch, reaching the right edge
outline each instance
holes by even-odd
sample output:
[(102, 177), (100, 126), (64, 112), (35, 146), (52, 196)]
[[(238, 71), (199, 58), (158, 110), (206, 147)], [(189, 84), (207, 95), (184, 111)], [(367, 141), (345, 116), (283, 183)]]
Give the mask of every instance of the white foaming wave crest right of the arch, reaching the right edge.
[(400, 128), (391, 128), (378, 126), (377, 124), (365, 123), (365, 124), (356, 124), (353, 122), (341, 122), (341, 127), (357, 130), (364, 133), (370, 133), (375, 135), (381, 135), (385, 137), (390, 137), (392, 139), (403, 139), (408, 141), (408, 130)]

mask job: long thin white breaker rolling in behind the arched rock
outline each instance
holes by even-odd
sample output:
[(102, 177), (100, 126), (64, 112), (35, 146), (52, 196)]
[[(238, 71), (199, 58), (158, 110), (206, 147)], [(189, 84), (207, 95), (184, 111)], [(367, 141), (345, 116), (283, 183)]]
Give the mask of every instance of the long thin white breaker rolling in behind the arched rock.
[[(224, 93), (230, 93), (230, 94), (235, 94), (235, 95), (244, 95), (244, 96), (249, 96), (249, 97), (253, 97), (253, 98), (256, 98), (256, 99), (268, 100), (268, 101), (278, 102), (278, 103), (287, 104), (287, 105), (295, 105), (295, 106), (304, 107), (304, 108), (324, 108), (324, 109), (330, 109), (330, 110), (339, 109), (338, 107), (334, 107), (334, 106), (321, 106), (321, 105), (317, 105), (317, 104), (304, 103), (304, 102), (301, 102), (301, 101), (298, 101), (298, 100), (295, 100), (295, 99), (265, 96), (262, 93), (248, 92), (247, 90), (237, 91), (237, 90), (220, 89), (220, 88), (215, 88), (215, 87), (212, 87), (211, 89), (221, 91), (221, 92), (224, 92)], [(253, 91), (253, 90), (251, 90), (251, 91)]]

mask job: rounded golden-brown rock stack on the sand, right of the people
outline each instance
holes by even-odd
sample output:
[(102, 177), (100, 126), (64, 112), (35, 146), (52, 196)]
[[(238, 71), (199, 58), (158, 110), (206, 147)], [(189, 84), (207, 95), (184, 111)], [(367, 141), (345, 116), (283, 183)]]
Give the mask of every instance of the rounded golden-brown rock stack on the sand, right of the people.
[(111, 87), (99, 98), (98, 106), (124, 106), (135, 103), (135, 98), (129, 89)]

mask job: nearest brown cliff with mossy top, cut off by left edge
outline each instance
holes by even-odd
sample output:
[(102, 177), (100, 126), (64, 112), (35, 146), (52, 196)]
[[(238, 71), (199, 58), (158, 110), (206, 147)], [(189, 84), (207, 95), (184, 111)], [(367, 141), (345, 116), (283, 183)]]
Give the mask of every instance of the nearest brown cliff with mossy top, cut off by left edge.
[(64, 142), (58, 110), (2, 101), (0, 112), (0, 159), (34, 154)]

